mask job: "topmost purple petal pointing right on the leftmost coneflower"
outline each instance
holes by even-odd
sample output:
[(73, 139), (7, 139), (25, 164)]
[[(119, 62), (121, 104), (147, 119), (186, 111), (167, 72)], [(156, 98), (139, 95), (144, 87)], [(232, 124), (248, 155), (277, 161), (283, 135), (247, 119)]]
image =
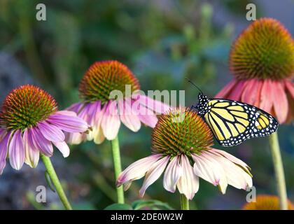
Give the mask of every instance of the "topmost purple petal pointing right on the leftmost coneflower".
[(47, 121), (64, 130), (64, 132), (85, 132), (88, 128), (85, 120), (60, 113), (53, 113)]

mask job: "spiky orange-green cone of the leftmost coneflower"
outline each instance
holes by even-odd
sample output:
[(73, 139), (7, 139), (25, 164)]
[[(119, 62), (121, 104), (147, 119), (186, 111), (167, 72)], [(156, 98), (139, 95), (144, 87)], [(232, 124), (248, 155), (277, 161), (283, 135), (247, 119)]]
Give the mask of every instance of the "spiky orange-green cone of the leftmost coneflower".
[(6, 97), (0, 113), (0, 124), (8, 130), (25, 130), (36, 126), (57, 111), (55, 99), (34, 85), (22, 85)]

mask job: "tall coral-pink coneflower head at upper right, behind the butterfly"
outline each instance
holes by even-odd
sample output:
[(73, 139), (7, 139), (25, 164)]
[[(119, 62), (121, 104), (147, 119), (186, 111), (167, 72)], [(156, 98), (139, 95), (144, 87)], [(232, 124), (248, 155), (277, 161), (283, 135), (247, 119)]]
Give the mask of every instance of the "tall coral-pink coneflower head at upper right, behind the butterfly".
[(230, 51), (235, 78), (216, 98), (246, 102), (271, 113), (279, 123), (294, 118), (294, 41), (281, 23), (262, 18), (247, 27)]

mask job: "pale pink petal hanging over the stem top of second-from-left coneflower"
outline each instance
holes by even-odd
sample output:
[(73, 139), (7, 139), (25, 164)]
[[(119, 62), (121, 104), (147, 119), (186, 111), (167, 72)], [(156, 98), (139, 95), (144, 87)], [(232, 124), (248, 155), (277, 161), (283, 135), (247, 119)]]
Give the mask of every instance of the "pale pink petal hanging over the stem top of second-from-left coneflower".
[(120, 129), (120, 117), (118, 116), (116, 102), (106, 104), (105, 113), (101, 123), (103, 134), (107, 140), (113, 140), (118, 135)]

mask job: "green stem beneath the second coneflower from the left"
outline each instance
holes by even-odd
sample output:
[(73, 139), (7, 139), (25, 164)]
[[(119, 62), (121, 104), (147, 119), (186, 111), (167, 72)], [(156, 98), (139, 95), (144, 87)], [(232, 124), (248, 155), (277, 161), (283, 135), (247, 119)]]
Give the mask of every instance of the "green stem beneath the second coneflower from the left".
[[(120, 145), (118, 142), (118, 137), (116, 137), (116, 139), (113, 139), (111, 141), (111, 144), (112, 144), (114, 174), (115, 174), (115, 177), (117, 180), (118, 175), (120, 175), (120, 173), (122, 172), (122, 165), (120, 162)], [(123, 186), (116, 188), (116, 193), (117, 193), (117, 197), (118, 197), (118, 203), (124, 204), (125, 197), (124, 197), (124, 193), (123, 193)]]

